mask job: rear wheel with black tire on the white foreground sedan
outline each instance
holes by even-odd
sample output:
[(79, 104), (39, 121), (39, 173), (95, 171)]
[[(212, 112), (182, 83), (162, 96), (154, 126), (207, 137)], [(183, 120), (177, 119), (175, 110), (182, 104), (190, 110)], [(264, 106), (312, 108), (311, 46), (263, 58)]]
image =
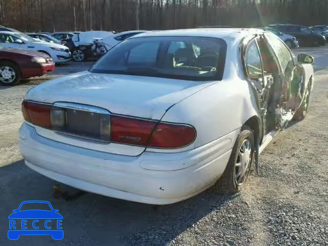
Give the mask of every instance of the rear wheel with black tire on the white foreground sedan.
[[(244, 151), (245, 161), (241, 160), (241, 146), (245, 143), (249, 143), (249, 148), (247, 152)], [(246, 149), (246, 148), (245, 148)], [(231, 194), (237, 193), (244, 183), (247, 181), (248, 175), (251, 170), (251, 165), (254, 156), (254, 133), (253, 130), (249, 126), (243, 126), (238, 134), (235, 145), (232, 149), (228, 164), (226, 169), (224, 170), (220, 179), (214, 185), (214, 191), (221, 194)], [(246, 158), (249, 154), (249, 158)], [(237, 163), (241, 163), (241, 166), (238, 168)], [(248, 163), (247, 163), (248, 162)], [(247, 164), (246, 164), (247, 163)], [(245, 164), (245, 165), (244, 165)], [(240, 168), (244, 167), (244, 174), (241, 180), (241, 176), (238, 176)], [(239, 181), (238, 181), (239, 177)], [(241, 181), (241, 182), (240, 182)]]

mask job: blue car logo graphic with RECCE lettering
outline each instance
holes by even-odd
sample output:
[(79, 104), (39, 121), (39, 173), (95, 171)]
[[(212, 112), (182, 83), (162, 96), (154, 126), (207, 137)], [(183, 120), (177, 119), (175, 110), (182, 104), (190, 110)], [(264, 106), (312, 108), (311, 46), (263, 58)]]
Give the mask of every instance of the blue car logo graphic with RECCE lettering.
[[(49, 205), (50, 209), (21, 210), (22, 206), (28, 203), (46, 203)], [(47, 206), (46, 204), (42, 205)], [(29, 207), (31, 205), (34, 206), (35, 204), (28, 204)], [(58, 213), (58, 210), (53, 209), (49, 201), (23, 201), (20, 203), (18, 209), (13, 210), (13, 213), (9, 215), (8, 218), (8, 238), (11, 240), (17, 240), (20, 235), (51, 235), (54, 240), (60, 240), (64, 238), (64, 231), (61, 230), (63, 216)], [(32, 227), (33, 230), (28, 230), (28, 226)], [(45, 230), (43, 230), (43, 227)]]

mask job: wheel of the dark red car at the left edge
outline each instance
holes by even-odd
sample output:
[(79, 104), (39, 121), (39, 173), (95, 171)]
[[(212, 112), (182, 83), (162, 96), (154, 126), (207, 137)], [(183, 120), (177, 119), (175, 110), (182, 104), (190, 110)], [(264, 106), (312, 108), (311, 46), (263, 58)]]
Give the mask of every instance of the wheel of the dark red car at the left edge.
[(4, 86), (14, 86), (20, 82), (20, 70), (10, 61), (0, 63), (0, 83)]

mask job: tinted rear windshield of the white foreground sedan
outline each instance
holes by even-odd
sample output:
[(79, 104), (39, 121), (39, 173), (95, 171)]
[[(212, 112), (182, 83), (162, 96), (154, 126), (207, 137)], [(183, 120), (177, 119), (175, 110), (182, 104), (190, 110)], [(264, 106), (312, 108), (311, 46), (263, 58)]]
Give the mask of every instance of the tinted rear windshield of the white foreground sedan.
[(138, 37), (127, 39), (89, 70), (187, 80), (221, 80), (227, 44), (211, 37)]

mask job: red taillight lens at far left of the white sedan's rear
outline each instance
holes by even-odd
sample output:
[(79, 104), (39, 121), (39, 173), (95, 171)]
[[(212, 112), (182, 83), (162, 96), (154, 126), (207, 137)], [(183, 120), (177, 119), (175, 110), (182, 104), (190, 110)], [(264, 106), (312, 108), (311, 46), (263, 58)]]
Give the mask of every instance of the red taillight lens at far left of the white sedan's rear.
[(51, 128), (50, 110), (50, 105), (32, 103), (31, 101), (23, 101), (22, 103), (24, 119), (40, 127)]

